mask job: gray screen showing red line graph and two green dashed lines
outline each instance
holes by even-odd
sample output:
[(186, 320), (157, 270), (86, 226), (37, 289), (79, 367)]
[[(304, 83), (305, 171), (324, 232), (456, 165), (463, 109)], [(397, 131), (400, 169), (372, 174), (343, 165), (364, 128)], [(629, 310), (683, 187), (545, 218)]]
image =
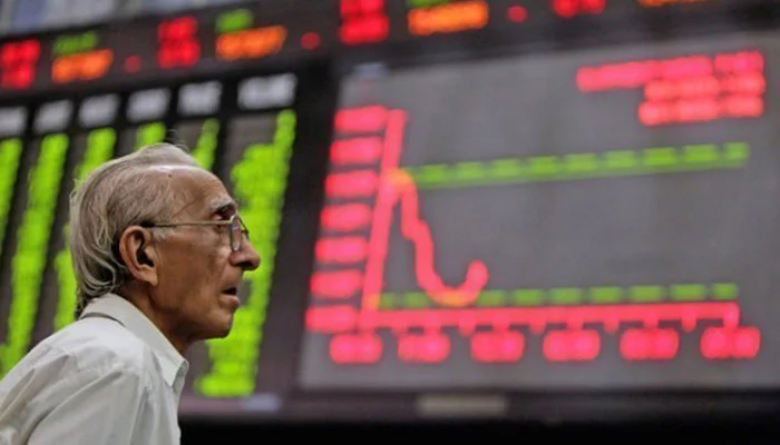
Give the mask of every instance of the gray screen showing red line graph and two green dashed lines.
[(777, 34), (344, 81), (304, 388), (780, 383)]

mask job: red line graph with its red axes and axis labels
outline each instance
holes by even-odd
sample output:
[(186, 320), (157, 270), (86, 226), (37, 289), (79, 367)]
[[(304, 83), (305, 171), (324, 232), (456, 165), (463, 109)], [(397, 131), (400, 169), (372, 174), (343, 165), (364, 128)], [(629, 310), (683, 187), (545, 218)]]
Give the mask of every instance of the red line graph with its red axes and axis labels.
[[(626, 360), (669, 360), (679, 352), (679, 330), (692, 333), (702, 322), (721, 325), (703, 329), (700, 352), (704, 358), (744, 359), (758, 354), (760, 332), (740, 325), (735, 301), (476, 307), (489, 279), (488, 268), (472, 259), (462, 283), (442, 281), (417, 187), (399, 169), (407, 123), (406, 111), (381, 106), (347, 109), (337, 116), (337, 130), (348, 138), (333, 142), (331, 160), (348, 169), (328, 178), (329, 198), (338, 204), (325, 206), (322, 212), (328, 235), (321, 235), (316, 257), (325, 267), (311, 281), (320, 304), (306, 313), (310, 332), (333, 335), (330, 355), (334, 362), (376, 363), (383, 354), (377, 332), (390, 329), (398, 338), (399, 359), (440, 363), (450, 352), (445, 328), (456, 328), (470, 338), (476, 362), (520, 359), (526, 338), (518, 328), (543, 337), (542, 350), (548, 362), (587, 362), (601, 353), (597, 326), (605, 334), (621, 336), (621, 355)], [(373, 204), (367, 204), (369, 199)], [(435, 308), (379, 309), (397, 208), (398, 229), (413, 247), (416, 283)], [(670, 322), (680, 328), (663, 325)]]

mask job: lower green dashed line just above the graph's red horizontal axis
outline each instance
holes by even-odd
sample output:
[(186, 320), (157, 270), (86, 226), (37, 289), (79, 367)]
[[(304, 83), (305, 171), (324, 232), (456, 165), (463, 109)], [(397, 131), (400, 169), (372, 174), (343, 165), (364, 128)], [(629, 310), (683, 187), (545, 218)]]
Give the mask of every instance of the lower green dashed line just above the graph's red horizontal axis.
[[(739, 295), (733, 283), (674, 284), (669, 286), (594, 286), (556, 287), (552, 289), (484, 290), (477, 297), (477, 307), (528, 307), (566, 305), (650, 304), (703, 300), (730, 300)], [(380, 310), (419, 309), (435, 307), (436, 303), (426, 293), (387, 293), (379, 299)]]

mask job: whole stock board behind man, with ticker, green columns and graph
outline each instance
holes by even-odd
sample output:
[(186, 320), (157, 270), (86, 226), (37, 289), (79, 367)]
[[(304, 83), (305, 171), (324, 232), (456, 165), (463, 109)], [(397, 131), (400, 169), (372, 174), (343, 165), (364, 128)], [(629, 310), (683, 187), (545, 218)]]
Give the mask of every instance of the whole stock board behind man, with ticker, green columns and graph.
[(72, 323), (74, 181), (165, 140), (262, 256), (185, 416), (778, 387), (780, 43), (745, 19), (770, 3), (247, 3), (9, 38), (0, 376)]

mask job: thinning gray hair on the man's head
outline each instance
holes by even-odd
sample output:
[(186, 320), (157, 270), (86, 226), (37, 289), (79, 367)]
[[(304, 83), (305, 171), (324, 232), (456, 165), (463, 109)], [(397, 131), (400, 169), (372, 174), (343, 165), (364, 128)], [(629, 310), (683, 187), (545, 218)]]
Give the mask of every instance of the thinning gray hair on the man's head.
[(71, 194), (68, 237), (77, 318), (90, 300), (115, 293), (126, 283), (127, 267), (118, 250), (123, 231), (173, 216), (173, 205), (182, 195), (149, 168), (160, 165), (198, 166), (186, 148), (154, 144), (101, 165)]

